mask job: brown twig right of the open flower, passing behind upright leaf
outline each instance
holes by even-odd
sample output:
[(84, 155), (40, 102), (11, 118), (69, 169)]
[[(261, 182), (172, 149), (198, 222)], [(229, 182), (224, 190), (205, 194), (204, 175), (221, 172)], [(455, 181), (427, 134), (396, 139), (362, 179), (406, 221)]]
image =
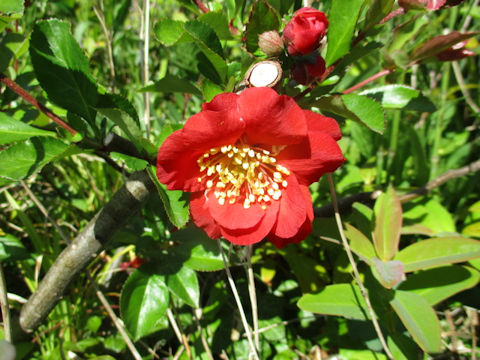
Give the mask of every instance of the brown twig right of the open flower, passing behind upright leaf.
[[(477, 171), (480, 171), (480, 160), (474, 161), (466, 166), (463, 166), (458, 169), (448, 170), (437, 178), (429, 181), (426, 185), (410, 191), (406, 194), (399, 195), (401, 202), (408, 202), (413, 199), (416, 199), (422, 195), (428, 194), (433, 189), (443, 185), (449, 180), (453, 180), (468, 174), (473, 174)], [(355, 195), (347, 196), (338, 201), (338, 208), (340, 211), (345, 212), (349, 211), (352, 207), (352, 204), (355, 202), (360, 202), (363, 204), (373, 204), (375, 200), (380, 196), (381, 191), (369, 191), (363, 192)], [(330, 217), (334, 215), (333, 204), (324, 205), (322, 207), (314, 209), (315, 217)]]

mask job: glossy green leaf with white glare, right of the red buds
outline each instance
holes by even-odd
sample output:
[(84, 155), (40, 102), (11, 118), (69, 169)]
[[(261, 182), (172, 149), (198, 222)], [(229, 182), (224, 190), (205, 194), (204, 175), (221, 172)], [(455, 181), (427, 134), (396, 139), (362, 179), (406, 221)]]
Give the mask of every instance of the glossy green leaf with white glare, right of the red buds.
[(403, 109), (422, 112), (436, 111), (435, 105), (420, 91), (406, 85), (385, 85), (362, 91), (382, 104), (385, 109)]

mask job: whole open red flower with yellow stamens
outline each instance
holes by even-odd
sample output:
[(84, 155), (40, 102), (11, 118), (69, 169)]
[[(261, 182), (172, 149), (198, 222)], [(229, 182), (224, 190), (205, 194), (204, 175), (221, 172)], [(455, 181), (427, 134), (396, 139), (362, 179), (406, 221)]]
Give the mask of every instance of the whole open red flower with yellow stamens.
[(211, 238), (277, 247), (312, 229), (308, 185), (344, 161), (334, 119), (270, 88), (217, 95), (160, 147), (157, 177), (191, 192), (190, 213)]

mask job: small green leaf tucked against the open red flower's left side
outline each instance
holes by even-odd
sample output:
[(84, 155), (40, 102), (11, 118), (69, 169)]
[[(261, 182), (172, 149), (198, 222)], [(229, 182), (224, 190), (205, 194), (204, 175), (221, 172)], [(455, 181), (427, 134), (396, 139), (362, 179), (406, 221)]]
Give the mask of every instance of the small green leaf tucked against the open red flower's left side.
[(188, 195), (181, 190), (167, 190), (167, 187), (158, 181), (154, 168), (149, 169), (150, 178), (157, 187), (168, 218), (177, 228), (183, 228), (190, 220)]

